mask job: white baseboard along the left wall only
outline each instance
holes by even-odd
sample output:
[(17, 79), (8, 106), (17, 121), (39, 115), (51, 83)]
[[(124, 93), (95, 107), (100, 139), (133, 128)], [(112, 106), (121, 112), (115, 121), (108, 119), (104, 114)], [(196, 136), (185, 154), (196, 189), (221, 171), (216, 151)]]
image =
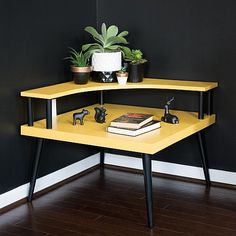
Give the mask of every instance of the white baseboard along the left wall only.
[[(99, 154), (92, 155), (82, 161), (78, 161), (70, 166), (57, 170), (51, 174), (43, 176), (36, 181), (34, 192), (41, 191), (56, 183), (59, 183), (73, 175), (76, 175), (84, 170), (87, 170), (100, 163)], [(28, 196), (29, 183), (19, 186), (13, 190), (0, 195), (0, 209), (17, 202)]]

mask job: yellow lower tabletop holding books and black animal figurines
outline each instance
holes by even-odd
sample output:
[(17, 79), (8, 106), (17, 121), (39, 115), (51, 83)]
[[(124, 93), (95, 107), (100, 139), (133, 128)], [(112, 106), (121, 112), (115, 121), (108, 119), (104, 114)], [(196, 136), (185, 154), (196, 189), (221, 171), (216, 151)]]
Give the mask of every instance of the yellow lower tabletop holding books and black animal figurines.
[(205, 115), (203, 120), (199, 120), (198, 114), (195, 112), (171, 111), (179, 117), (179, 124), (173, 125), (162, 122), (160, 129), (137, 137), (129, 137), (108, 133), (106, 128), (110, 121), (127, 112), (151, 113), (155, 116), (155, 119), (160, 120), (164, 110), (105, 104), (104, 107), (108, 113), (106, 123), (99, 124), (94, 119), (94, 107), (96, 106), (99, 105), (85, 108), (90, 111), (90, 114), (85, 116), (84, 125), (72, 125), (72, 114), (82, 110), (78, 109), (58, 115), (53, 120), (52, 129), (46, 129), (45, 119), (34, 122), (34, 126), (22, 125), (21, 135), (154, 154), (215, 123), (215, 115)]

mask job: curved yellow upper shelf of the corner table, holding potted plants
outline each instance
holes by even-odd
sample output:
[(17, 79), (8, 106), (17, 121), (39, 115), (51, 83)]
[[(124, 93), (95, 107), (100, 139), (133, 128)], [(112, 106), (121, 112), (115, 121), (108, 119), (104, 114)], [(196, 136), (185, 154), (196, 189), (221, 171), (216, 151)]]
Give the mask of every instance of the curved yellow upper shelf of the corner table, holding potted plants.
[(145, 78), (141, 83), (127, 83), (124, 86), (118, 83), (96, 83), (90, 81), (85, 85), (75, 84), (73, 81), (31, 89), (21, 92), (22, 97), (55, 99), (77, 93), (117, 89), (171, 89), (185, 91), (206, 92), (218, 86), (217, 82), (166, 80)]

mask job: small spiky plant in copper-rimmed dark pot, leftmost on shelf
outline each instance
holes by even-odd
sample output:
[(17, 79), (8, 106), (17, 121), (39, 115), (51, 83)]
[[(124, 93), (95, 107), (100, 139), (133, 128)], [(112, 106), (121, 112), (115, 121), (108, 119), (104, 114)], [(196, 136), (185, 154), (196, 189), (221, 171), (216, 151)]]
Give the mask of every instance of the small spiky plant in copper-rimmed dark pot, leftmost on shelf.
[(77, 52), (70, 48), (70, 56), (66, 57), (71, 63), (72, 79), (76, 84), (86, 84), (90, 78), (91, 66), (88, 63), (88, 55), (83, 51)]

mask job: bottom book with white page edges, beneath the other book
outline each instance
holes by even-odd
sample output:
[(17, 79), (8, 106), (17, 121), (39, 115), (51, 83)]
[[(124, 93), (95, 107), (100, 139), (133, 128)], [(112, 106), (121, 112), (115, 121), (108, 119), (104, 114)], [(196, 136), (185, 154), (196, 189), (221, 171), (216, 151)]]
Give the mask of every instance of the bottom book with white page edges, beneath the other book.
[(159, 120), (152, 120), (148, 122), (147, 124), (143, 125), (139, 129), (132, 129), (132, 128), (118, 128), (113, 126), (108, 126), (107, 131), (110, 133), (115, 134), (122, 134), (122, 135), (128, 135), (128, 136), (137, 136), (143, 133), (150, 132), (152, 130), (158, 129), (161, 127), (161, 121)]

